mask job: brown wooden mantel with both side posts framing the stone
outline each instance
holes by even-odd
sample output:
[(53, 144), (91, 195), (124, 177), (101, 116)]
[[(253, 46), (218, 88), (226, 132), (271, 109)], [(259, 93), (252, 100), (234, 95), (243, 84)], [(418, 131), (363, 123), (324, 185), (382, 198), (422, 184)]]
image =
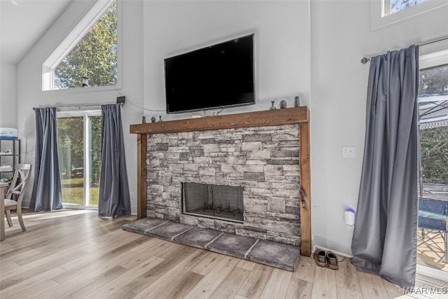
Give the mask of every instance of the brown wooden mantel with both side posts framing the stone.
[(309, 110), (306, 106), (130, 125), (130, 133), (138, 134), (137, 218), (146, 217), (147, 134), (220, 130), (237, 127), (262, 127), (295, 123), (299, 124), (300, 134), (300, 200), (302, 202), (300, 207), (300, 251), (302, 256), (310, 256), (311, 178), (309, 164)]

